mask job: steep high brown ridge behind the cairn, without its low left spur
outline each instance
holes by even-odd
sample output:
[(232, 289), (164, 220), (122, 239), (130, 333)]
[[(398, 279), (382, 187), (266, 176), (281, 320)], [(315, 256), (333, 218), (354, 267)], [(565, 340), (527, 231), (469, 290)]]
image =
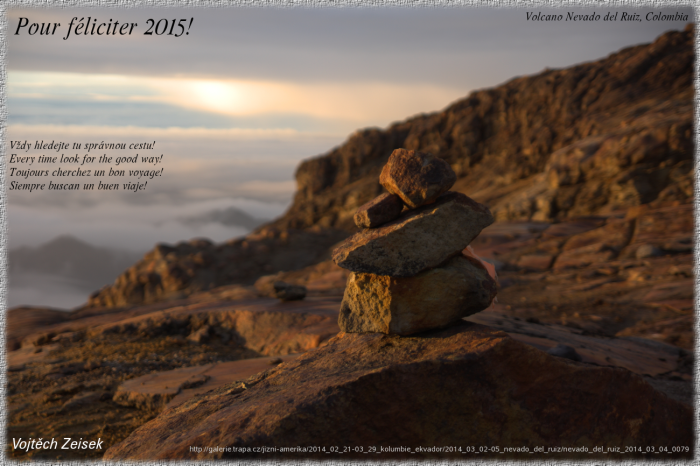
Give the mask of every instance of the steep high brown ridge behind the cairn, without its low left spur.
[[(458, 176), (453, 190), (486, 202), (499, 220), (590, 215), (603, 207), (588, 199), (591, 197), (612, 198), (613, 202), (606, 203), (608, 211), (650, 199), (686, 201), (692, 195), (688, 164), (674, 166), (676, 171), (660, 180), (645, 181), (649, 189), (630, 187), (626, 184), (629, 180), (622, 178), (626, 170), (640, 164), (659, 166), (663, 162), (659, 159), (669, 154), (676, 162), (692, 160), (693, 31), (689, 25), (684, 31), (660, 36), (652, 44), (628, 47), (602, 60), (516, 77), (500, 86), (474, 91), (443, 111), (418, 115), (385, 130), (359, 130), (329, 153), (301, 163), (294, 202), (273, 224), (278, 228), (319, 225), (353, 231), (352, 213), (381, 193), (379, 170), (398, 147), (432, 152), (447, 160)], [(653, 131), (656, 125), (661, 127)], [(626, 139), (633, 131), (648, 134)], [(577, 143), (585, 149), (573, 146)], [(654, 153), (635, 159), (640, 145), (654, 146)], [(548, 165), (549, 157), (569, 146), (574, 152), (592, 151), (590, 155), (603, 152), (598, 158), (619, 152), (620, 167), (605, 173), (604, 181), (619, 186), (624, 192), (622, 199), (617, 200), (605, 186), (601, 192), (602, 183), (567, 182), (566, 176), (558, 176), (566, 167), (561, 163)], [(565, 158), (566, 154), (558, 155)], [(592, 168), (604, 172), (598, 165), (593, 163)], [(509, 169), (499, 173), (502, 167)], [(532, 179), (536, 175), (545, 179)], [(645, 173), (632, 175), (650, 178)], [(509, 186), (518, 182), (526, 185), (525, 180), (541, 185), (535, 195), (527, 193), (527, 186), (515, 190)], [(678, 180), (682, 192), (662, 193)], [(493, 184), (496, 186), (490, 186)], [(513, 191), (535, 206), (518, 206), (518, 202), (508, 200)], [(541, 195), (545, 191), (546, 195)]]

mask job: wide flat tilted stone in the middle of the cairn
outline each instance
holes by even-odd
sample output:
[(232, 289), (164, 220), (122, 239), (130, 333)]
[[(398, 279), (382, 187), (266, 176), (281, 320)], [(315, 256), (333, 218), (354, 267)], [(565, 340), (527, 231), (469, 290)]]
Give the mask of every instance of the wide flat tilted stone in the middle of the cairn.
[(491, 223), (485, 205), (447, 193), (434, 204), (351, 236), (333, 251), (333, 260), (353, 272), (410, 277), (456, 256)]

